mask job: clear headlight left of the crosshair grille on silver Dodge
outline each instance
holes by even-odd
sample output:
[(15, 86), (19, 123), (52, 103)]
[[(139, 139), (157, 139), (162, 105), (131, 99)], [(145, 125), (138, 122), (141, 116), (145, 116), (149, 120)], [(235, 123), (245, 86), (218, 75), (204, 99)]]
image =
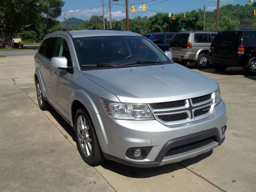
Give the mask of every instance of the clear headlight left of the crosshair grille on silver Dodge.
[(101, 99), (110, 118), (125, 120), (152, 120), (154, 116), (146, 104), (119, 103)]

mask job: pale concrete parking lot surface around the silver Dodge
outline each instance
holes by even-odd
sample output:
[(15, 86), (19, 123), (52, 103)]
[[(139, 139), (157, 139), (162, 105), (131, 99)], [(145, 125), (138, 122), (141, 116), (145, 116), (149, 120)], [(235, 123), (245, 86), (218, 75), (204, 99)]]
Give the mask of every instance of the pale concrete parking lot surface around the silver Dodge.
[(0, 58), (0, 191), (256, 190), (256, 76), (242, 68), (196, 72), (214, 78), (227, 108), (224, 143), (206, 154), (157, 168), (106, 161), (88, 166), (72, 128), (38, 108), (34, 56)]

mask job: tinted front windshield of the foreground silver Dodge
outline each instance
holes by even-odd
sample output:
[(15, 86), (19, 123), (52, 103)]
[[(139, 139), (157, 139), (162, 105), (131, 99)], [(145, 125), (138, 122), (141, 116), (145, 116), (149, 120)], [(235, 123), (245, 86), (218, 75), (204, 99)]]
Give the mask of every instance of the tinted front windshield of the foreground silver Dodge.
[(78, 37), (73, 38), (73, 41), (82, 70), (171, 62), (142, 36)]

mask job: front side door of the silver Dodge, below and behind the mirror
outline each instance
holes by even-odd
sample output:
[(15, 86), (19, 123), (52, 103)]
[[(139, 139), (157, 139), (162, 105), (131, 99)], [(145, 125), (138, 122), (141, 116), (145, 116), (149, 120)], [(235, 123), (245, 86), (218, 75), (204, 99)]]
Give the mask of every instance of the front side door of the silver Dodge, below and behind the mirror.
[[(70, 44), (65, 36), (60, 36), (56, 46), (56, 56), (66, 57), (68, 66), (73, 66), (73, 58), (70, 52)], [(54, 98), (56, 98), (56, 108), (67, 119), (70, 115), (69, 98), (73, 89), (68, 86), (68, 78), (72, 75), (70, 72), (62, 69), (53, 69), (52, 81), (55, 85)]]

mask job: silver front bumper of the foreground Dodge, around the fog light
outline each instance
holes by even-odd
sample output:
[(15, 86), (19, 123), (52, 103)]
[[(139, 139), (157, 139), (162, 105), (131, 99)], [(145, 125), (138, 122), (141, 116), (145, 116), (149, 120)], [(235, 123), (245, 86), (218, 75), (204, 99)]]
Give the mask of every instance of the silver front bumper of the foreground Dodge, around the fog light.
[[(214, 108), (211, 116), (175, 126), (165, 126), (156, 120), (114, 120), (99, 114), (91, 114), (91, 117), (104, 156), (109, 160), (135, 167), (161, 166), (208, 152), (224, 141), (222, 127), (227, 122), (223, 101)], [(166, 152), (171, 148), (210, 137), (214, 138), (210, 144), (166, 156)], [(128, 148), (147, 146), (152, 146), (152, 150), (144, 159), (135, 160), (125, 155)]]

